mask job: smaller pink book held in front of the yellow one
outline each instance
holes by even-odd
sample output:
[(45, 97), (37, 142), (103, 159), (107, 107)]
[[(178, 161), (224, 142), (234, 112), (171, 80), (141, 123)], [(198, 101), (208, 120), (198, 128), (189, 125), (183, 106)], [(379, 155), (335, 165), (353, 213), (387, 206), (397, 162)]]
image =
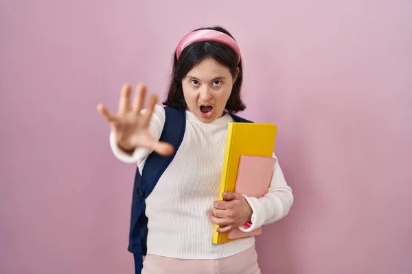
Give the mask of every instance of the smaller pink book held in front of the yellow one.
[[(275, 162), (276, 159), (271, 157), (241, 155), (235, 192), (248, 197), (263, 197), (271, 184)], [(252, 232), (242, 232), (235, 227), (227, 232), (227, 238), (237, 239), (259, 234), (262, 234), (262, 227)]]

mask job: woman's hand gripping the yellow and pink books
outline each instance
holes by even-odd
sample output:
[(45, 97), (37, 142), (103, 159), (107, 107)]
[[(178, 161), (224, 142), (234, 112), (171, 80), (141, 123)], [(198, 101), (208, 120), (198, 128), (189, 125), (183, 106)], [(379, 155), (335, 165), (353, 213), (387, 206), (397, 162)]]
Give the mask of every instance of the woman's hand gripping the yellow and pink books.
[(253, 210), (247, 200), (236, 192), (223, 192), (222, 201), (214, 201), (210, 219), (220, 227), (219, 233), (229, 232), (233, 227), (239, 227), (251, 221)]

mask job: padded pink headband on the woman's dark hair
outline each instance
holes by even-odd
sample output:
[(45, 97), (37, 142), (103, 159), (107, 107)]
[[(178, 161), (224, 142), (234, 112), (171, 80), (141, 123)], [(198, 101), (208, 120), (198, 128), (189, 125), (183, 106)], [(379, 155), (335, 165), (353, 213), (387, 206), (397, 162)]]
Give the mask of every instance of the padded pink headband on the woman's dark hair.
[(224, 34), (223, 32), (218, 32), (214, 29), (200, 29), (186, 34), (186, 36), (179, 42), (179, 45), (177, 45), (176, 58), (179, 60), (179, 57), (185, 47), (190, 46), (195, 42), (205, 41), (219, 42), (220, 44), (231, 48), (238, 56), (238, 63), (240, 62), (240, 49), (238, 43), (229, 35)]

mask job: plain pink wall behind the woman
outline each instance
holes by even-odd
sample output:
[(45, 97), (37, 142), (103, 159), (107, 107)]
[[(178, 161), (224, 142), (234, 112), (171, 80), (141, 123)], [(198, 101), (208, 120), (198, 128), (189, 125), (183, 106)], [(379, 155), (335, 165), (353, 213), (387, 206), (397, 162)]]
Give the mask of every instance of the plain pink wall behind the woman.
[(95, 105), (162, 93), (179, 38), (214, 24), (295, 190), (258, 238), (264, 273), (412, 273), (412, 2), (252, 2), (1, 1), (1, 274), (133, 273), (134, 166)]

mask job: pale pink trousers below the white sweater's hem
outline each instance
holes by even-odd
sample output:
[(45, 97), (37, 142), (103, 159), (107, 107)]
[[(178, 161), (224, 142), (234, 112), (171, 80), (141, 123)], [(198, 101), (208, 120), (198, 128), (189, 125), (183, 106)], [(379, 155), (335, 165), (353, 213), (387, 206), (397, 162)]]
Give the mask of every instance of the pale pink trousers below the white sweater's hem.
[(217, 260), (181, 260), (148, 254), (141, 274), (262, 274), (258, 254), (251, 247)]

